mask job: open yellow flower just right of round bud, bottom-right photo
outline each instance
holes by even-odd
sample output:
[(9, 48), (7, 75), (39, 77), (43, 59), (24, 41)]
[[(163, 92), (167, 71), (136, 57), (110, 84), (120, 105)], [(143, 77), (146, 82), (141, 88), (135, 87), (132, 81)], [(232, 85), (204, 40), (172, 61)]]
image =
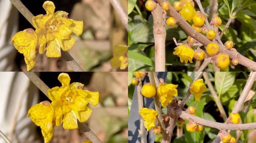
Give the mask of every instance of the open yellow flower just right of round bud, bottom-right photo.
[(173, 101), (173, 96), (178, 95), (177, 88), (178, 85), (163, 83), (160, 84), (157, 89), (157, 95), (161, 101), (162, 107), (167, 107)]

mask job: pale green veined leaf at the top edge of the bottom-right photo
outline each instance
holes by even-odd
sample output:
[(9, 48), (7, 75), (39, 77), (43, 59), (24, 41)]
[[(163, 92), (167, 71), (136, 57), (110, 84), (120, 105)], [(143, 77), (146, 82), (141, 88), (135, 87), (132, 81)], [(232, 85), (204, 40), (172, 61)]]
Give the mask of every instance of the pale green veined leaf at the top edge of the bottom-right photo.
[(215, 87), (218, 95), (228, 91), (235, 81), (235, 72), (215, 72)]

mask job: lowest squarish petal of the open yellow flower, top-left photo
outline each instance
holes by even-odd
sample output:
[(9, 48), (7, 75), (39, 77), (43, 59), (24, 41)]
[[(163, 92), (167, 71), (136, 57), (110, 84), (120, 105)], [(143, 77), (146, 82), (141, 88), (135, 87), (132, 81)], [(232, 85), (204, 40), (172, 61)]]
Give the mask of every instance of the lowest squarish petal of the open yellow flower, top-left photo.
[(57, 39), (49, 41), (46, 47), (47, 57), (61, 57), (61, 47)]

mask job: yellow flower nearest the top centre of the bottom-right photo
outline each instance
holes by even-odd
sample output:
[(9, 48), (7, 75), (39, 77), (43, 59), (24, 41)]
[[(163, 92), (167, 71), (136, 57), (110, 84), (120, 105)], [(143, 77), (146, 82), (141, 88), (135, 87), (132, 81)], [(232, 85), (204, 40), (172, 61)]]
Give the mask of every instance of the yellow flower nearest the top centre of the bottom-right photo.
[(203, 79), (198, 79), (193, 82), (189, 88), (189, 91), (195, 96), (195, 101), (199, 103), (202, 93), (206, 91), (206, 86), (204, 85)]

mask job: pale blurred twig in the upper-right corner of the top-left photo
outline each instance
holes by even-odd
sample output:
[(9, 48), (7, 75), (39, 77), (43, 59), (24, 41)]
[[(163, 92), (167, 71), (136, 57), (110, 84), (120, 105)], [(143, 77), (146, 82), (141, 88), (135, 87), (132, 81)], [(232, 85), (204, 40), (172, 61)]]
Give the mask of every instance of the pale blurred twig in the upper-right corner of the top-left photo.
[(122, 5), (120, 0), (110, 0), (110, 3), (116, 10), (116, 13), (119, 15), (119, 18), (121, 19), (125, 29), (128, 31), (128, 14), (126, 10), (124, 9), (124, 6)]

